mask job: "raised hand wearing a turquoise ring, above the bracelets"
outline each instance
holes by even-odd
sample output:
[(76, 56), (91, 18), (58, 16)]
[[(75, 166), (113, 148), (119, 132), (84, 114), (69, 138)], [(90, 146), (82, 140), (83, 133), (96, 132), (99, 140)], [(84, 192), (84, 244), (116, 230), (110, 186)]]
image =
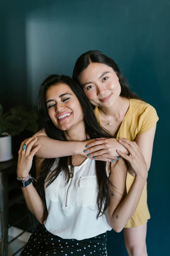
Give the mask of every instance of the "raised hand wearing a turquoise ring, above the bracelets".
[[(17, 164), (17, 177), (24, 178), (29, 176), (29, 171), (31, 170), (33, 157), (38, 151), (41, 145), (37, 145), (32, 151), (32, 146), (37, 141), (36, 137), (31, 137), (24, 140), (21, 143), (20, 150), (18, 151), (18, 164)], [(23, 145), (26, 144), (26, 150), (23, 150)]]

